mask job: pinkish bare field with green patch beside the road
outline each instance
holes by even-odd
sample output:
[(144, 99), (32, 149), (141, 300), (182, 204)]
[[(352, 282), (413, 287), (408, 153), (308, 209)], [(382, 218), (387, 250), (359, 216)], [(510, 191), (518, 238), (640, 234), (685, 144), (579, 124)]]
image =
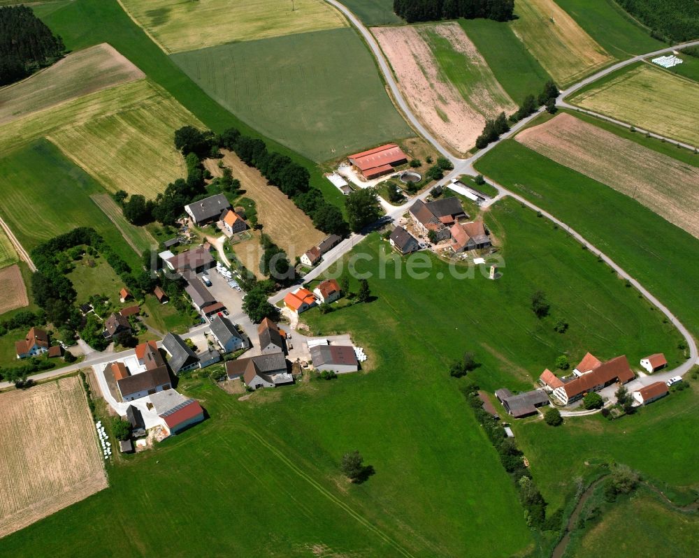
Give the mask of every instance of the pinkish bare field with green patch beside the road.
[(457, 23), (376, 27), (408, 103), (455, 152), (475, 145), (487, 118), (517, 107)]

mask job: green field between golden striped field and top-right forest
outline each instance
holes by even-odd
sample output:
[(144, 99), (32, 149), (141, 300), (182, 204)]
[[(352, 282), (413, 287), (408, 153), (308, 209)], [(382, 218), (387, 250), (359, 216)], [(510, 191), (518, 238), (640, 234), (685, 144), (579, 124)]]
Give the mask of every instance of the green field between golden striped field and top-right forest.
[(619, 59), (667, 45), (650, 36), (614, 0), (556, 0), (589, 36)]

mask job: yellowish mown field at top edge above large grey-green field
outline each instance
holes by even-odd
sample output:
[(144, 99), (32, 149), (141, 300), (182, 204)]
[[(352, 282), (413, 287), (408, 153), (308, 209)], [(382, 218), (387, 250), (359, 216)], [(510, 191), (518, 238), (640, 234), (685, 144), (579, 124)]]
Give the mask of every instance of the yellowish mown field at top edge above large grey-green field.
[(322, 0), (121, 0), (165, 52), (345, 27), (345, 18)]

